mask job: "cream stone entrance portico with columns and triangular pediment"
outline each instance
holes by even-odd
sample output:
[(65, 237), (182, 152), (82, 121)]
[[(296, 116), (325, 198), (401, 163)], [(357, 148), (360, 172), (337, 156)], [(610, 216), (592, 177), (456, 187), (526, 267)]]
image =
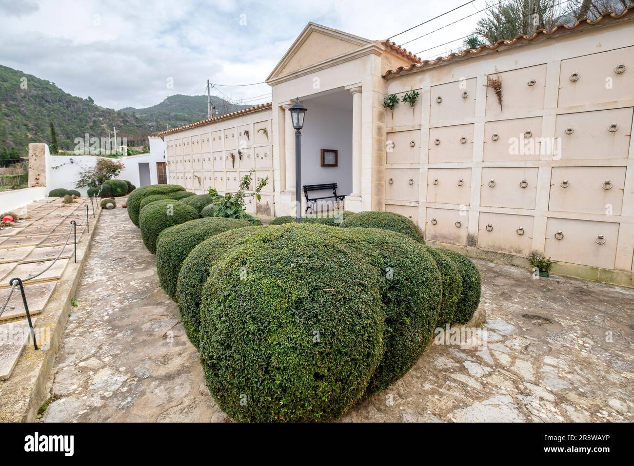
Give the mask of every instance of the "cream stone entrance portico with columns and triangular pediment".
[[(381, 75), (410, 64), (381, 42), (314, 23), (306, 26), (266, 80), (273, 93), (278, 216), (295, 215), (295, 130), (288, 108), (297, 97), (308, 109), (302, 129), (302, 186), (338, 183), (346, 210), (384, 210)], [(320, 149), (339, 151), (337, 167), (320, 166)]]

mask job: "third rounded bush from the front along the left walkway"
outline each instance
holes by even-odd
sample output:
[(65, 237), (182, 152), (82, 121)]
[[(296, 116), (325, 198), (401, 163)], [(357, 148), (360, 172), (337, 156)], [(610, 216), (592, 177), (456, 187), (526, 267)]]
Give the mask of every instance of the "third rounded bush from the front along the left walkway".
[[(143, 202), (150, 197), (146, 197)], [(249, 223), (242, 220), (210, 217), (181, 223), (163, 230), (157, 240), (157, 273), (161, 288), (172, 300), (176, 301), (178, 274), (191, 250), (211, 236), (245, 226), (249, 226)]]

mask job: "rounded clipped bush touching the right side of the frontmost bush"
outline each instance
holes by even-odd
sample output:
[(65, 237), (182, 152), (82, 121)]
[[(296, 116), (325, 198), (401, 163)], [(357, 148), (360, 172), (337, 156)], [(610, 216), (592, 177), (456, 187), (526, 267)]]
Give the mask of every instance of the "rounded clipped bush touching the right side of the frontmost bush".
[(424, 245), (408, 236), (378, 228), (343, 231), (384, 278), (385, 353), (368, 384), (372, 394), (403, 377), (425, 350), (441, 306), (441, 276)]

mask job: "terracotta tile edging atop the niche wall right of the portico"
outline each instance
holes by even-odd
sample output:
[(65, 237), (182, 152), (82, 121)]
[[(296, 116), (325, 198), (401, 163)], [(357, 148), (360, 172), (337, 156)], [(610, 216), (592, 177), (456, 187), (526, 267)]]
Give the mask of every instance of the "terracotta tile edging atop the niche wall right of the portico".
[(476, 49), (466, 49), (460, 53), (450, 53), (450, 55), (447, 55), (447, 56), (439, 56), (435, 60), (420, 60), (420, 58), (417, 57), (418, 59), (417, 63), (412, 63), (411, 65), (407, 67), (398, 67), (396, 68), (396, 70), (388, 70), (387, 72), (385, 72), (383, 77), (391, 77), (394, 75), (398, 75), (402, 72), (408, 72), (410, 70), (421, 70), (422, 68), (430, 67), (432, 65), (437, 65), (438, 63), (446, 63), (448, 61), (455, 60), (456, 58), (472, 58), (473, 56), (479, 55), (483, 51), (495, 50), (500, 48), (501, 46), (514, 46), (520, 42), (522, 43), (531, 42), (534, 39), (552, 36), (553, 34), (557, 32), (577, 29), (578, 27), (592, 27), (592, 26), (598, 25), (599, 23), (604, 23), (605, 21), (617, 20), (617, 19), (623, 18), (626, 15), (630, 15), (634, 17), (634, 5), (628, 6), (628, 8), (623, 10), (623, 13), (620, 13), (620, 14), (614, 13), (614, 11), (609, 11), (607, 13), (604, 13), (601, 16), (599, 16), (597, 20), (595, 21), (591, 20), (590, 18), (581, 18), (581, 20), (574, 23), (572, 26), (561, 23), (553, 27), (553, 29), (551, 30), (538, 29), (536, 32), (534, 32), (533, 36), (526, 36), (526, 34), (519, 34), (519, 36), (516, 36), (512, 40), (503, 39), (501, 41), (495, 42), (495, 44), (492, 44), (492, 45), (482, 44)]

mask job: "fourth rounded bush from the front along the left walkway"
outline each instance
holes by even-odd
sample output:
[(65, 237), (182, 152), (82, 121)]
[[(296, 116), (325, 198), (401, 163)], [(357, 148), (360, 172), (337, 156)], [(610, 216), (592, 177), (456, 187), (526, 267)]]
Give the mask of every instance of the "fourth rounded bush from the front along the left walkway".
[[(129, 210), (128, 205), (128, 210)], [(155, 254), (157, 238), (161, 231), (173, 225), (198, 218), (193, 207), (174, 199), (157, 200), (145, 206), (139, 216), (139, 228), (145, 247)]]

